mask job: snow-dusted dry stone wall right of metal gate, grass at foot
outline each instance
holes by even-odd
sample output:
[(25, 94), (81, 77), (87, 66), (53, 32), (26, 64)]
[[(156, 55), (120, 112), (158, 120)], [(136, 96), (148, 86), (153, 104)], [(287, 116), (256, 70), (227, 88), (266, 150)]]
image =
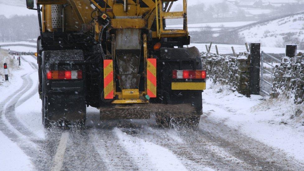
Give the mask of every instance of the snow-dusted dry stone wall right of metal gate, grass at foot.
[[(280, 111), (280, 123), (304, 131), (304, 55), (284, 57), (276, 66), (269, 104), (281, 104), (286, 111)], [(287, 113), (287, 115), (286, 115)]]

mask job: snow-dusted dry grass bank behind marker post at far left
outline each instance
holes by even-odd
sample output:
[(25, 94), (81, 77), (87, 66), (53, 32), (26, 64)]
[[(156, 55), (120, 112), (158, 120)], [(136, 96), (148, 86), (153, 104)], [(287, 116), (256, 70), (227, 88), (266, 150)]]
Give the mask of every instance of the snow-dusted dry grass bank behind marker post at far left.
[(8, 69), (8, 79), (12, 79), (14, 74), (13, 71), (19, 69), (18, 67), (18, 60), (17, 56), (15, 56), (15, 59), (12, 55), (8, 54), (7, 50), (1, 49), (0, 50), (0, 85), (2, 84), (8, 84), (8, 82), (5, 81), (4, 77), (4, 69), (3, 69), (3, 64), (7, 64), (7, 69)]

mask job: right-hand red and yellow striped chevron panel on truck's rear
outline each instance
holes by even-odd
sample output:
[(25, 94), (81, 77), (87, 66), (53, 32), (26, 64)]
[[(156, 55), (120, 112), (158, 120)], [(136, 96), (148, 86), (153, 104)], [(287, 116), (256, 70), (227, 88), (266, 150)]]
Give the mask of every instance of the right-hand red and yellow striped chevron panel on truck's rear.
[(156, 59), (147, 60), (147, 94), (156, 97)]

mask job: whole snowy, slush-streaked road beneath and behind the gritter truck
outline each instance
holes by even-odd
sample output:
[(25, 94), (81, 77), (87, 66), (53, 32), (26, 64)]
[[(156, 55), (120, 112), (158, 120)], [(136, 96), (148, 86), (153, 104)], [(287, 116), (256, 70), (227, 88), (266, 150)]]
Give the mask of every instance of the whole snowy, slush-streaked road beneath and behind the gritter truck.
[[(250, 138), (214, 112), (204, 97), (197, 129), (162, 129), (154, 119), (100, 121), (87, 108), (85, 129), (41, 124), (35, 57), (22, 56), (0, 93), (0, 170), (303, 170), (302, 161)], [(212, 103), (213, 102), (213, 103)], [(212, 111), (211, 107), (217, 107)], [(218, 110), (221, 108), (221, 110)]]

